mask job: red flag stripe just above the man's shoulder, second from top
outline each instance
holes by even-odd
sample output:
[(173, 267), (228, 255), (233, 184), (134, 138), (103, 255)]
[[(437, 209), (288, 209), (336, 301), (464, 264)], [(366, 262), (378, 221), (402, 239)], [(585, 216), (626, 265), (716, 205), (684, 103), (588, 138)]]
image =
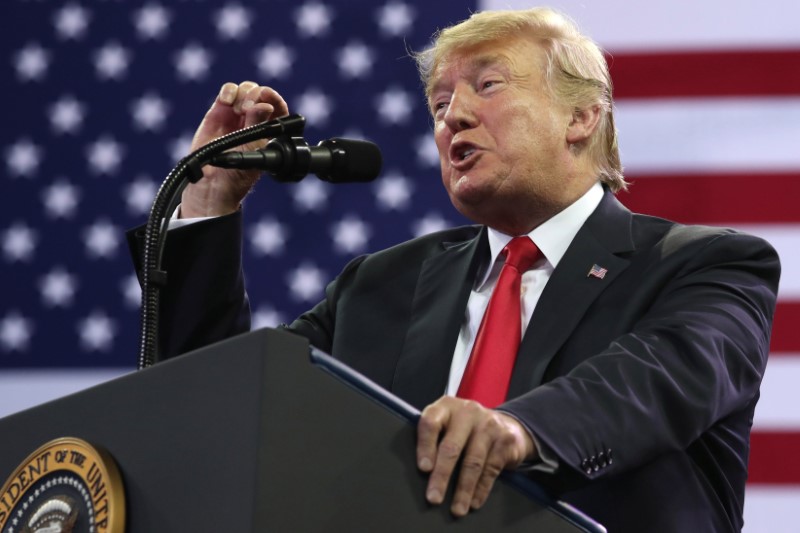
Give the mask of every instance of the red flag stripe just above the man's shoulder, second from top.
[(618, 198), (632, 211), (693, 224), (800, 222), (800, 173), (629, 177)]

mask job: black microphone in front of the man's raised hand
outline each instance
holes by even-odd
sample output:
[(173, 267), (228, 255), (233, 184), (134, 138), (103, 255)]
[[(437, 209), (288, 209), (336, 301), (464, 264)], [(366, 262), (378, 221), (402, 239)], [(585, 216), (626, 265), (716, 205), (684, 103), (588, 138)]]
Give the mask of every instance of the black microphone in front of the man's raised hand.
[(309, 146), (302, 137), (276, 137), (261, 150), (224, 152), (209, 165), (220, 168), (259, 169), (281, 182), (296, 182), (316, 174), (331, 183), (367, 182), (378, 177), (381, 150), (369, 141), (333, 138)]

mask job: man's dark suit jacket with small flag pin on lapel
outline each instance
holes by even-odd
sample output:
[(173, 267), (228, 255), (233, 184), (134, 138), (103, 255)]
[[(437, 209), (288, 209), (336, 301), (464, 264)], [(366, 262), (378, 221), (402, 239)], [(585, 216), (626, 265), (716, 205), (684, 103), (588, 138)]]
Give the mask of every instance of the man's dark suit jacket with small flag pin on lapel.
[[(241, 217), (171, 233), (162, 353), (246, 329)], [(357, 258), (289, 328), (422, 408), (445, 390), (485, 233)], [(531, 475), (612, 533), (741, 529), (779, 270), (763, 240), (632, 214), (607, 192), (541, 296), (500, 407), (558, 456), (555, 474)]]

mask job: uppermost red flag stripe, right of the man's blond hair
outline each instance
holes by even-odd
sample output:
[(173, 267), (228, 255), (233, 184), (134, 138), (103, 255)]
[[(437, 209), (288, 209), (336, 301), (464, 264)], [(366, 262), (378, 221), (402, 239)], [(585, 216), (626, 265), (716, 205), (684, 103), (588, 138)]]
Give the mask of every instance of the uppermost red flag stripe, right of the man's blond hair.
[(609, 54), (616, 98), (800, 95), (800, 50)]

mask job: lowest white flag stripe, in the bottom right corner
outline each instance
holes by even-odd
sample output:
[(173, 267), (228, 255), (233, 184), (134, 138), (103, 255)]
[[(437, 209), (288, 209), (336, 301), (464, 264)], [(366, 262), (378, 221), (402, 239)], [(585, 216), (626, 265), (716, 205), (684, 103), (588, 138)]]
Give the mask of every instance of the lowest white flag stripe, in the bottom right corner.
[(797, 533), (797, 509), (800, 487), (748, 485), (742, 533)]

